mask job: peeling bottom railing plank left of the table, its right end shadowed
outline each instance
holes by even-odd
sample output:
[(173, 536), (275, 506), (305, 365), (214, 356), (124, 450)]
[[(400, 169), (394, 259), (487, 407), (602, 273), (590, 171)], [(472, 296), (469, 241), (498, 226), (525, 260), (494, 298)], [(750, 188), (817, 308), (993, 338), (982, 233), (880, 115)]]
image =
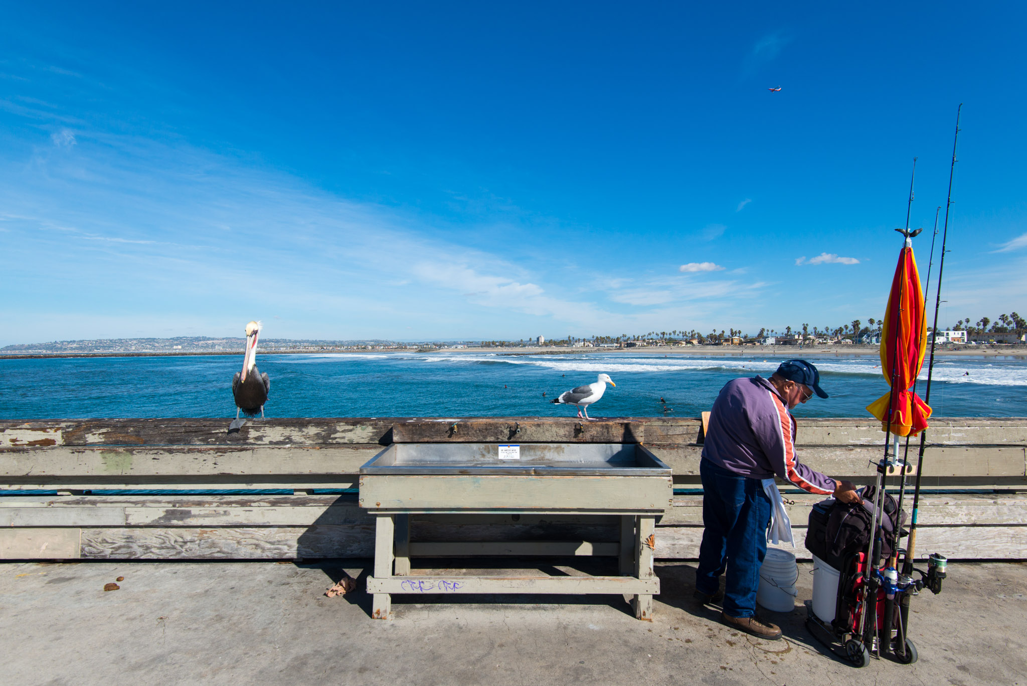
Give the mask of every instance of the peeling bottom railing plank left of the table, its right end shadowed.
[(81, 556), (90, 559), (370, 557), (374, 552), (373, 531), (362, 525), (83, 529)]

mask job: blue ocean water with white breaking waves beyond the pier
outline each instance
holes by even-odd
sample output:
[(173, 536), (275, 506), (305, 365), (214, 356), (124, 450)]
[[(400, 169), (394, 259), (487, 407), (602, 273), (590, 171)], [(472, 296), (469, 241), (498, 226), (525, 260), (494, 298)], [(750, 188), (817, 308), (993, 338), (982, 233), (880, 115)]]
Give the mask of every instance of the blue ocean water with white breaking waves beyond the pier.
[[(259, 354), (257, 362), (271, 377), (267, 417), (573, 417), (573, 406), (549, 401), (606, 372), (617, 386), (589, 409), (604, 418), (659, 417), (664, 405), (697, 417), (726, 382), (769, 376), (782, 359), (473, 352)], [(876, 357), (808, 359), (831, 397), (812, 398), (797, 417), (869, 417), (867, 404), (887, 392)], [(241, 364), (241, 355), (0, 360), (0, 419), (232, 418)], [(1027, 361), (940, 358), (930, 404), (936, 417), (1027, 416)]]

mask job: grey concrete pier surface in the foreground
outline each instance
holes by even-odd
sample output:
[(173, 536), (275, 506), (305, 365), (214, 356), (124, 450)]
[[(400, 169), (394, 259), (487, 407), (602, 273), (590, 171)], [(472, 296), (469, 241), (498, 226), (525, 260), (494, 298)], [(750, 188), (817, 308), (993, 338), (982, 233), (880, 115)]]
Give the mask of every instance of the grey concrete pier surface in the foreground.
[[(370, 568), (369, 559), (2, 564), (0, 683), (1027, 684), (1021, 563), (951, 564), (942, 594), (913, 601), (919, 661), (875, 659), (863, 670), (827, 655), (804, 628), (808, 564), (799, 567), (796, 610), (766, 613), (786, 637), (769, 643), (692, 604), (694, 563), (657, 564), (652, 622), (635, 619), (620, 598), (598, 595), (395, 595), (395, 618), (374, 620), (363, 592)], [(357, 590), (325, 597), (343, 570), (358, 577)], [(108, 583), (119, 588), (105, 591)]]

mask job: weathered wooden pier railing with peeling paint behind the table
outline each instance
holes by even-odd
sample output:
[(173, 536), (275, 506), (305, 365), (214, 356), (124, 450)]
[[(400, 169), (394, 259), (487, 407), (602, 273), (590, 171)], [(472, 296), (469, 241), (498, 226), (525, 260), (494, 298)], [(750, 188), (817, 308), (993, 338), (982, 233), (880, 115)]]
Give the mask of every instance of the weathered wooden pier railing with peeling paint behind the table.
[[(373, 521), (356, 502), (357, 472), (393, 440), (644, 442), (673, 467), (679, 490), (657, 529), (656, 556), (697, 555), (697, 419), (294, 419), (249, 422), (232, 434), (227, 425), (0, 422), (0, 492), (49, 492), (0, 497), (0, 558), (369, 556)], [(917, 547), (955, 559), (1027, 558), (1027, 419), (933, 419), (928, 436)], [(803, 462), (860, 483), (872, 478), (883, 434), (870, 421), (801, 420), (798, 438)], [(820, 498), (788, 497), (801, 541)], [(615, 541), (618, 534), (612, 518), (512, 519), (436, 516), (415, 521), (412, 537)], [(808, 558), (801, 546), (799, 557)]]

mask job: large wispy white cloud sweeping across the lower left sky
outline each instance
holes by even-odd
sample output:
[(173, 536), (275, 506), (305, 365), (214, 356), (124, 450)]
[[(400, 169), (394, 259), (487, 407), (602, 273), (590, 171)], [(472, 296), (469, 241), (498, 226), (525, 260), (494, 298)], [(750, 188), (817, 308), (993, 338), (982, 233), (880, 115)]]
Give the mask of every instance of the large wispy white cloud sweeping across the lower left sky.
[[(0, 275), (16, 296), (0, 317), (18, 322), (0, 345), (67, 336), (72, 322), (76, 337), (231, 333), (262, 313), (275, 336), (609, 333), (669, 317), (698, 325), (696, 313), (744, 291), (572, 261), (550, 270), (447, 240), (431, 217), (186, 145), (96, 132), (73, 155), (0, 165), (0, 207), (5, 236), (16, 237), (6, 255), (15, 266)], [(31, 265), (44, 256), (40, 275)]]

